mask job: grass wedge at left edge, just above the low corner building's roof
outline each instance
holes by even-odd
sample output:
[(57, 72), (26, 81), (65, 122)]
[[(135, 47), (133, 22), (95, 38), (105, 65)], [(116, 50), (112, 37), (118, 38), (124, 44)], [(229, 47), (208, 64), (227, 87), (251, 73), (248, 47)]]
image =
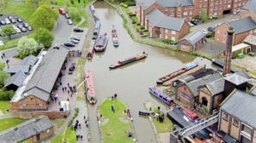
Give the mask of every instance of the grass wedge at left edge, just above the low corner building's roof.
[(18, 117), (9, 117), (9, 118), (4, 118), (0, 120), (0, 132), (14, 127), (17, 124), (25, 122), (25, 119), (18, 118)]

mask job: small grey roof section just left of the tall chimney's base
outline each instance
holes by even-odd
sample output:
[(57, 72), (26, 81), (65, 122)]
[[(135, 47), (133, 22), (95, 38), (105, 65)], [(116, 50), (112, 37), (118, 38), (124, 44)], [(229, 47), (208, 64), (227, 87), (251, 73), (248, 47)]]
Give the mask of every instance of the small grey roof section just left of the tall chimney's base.
[(207, 83), (207, 89), (210, 90), (210, 92), (212, 93), (212, 95), (214, 94), (220, 94), (222, 92), (224, 92), (224, 85), (225, 85), (225, 80), (224, 78), (220, 78), (216, 81), (213, 81), (211, 83)]

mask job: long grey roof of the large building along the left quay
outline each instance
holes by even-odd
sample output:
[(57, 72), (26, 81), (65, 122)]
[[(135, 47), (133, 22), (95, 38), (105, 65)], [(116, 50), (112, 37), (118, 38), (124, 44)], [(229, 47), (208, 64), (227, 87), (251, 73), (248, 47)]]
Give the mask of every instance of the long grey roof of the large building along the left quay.
[[(66, 48), (49, 49), (43, 60), (26, 85), (23, 98), (34, 95), (41, 100), (48, 100), (55, 81), (61, 72), (62, 65), (67, 58), (69, 50)], [(21, 98), (21, 99), (23, 99)]]

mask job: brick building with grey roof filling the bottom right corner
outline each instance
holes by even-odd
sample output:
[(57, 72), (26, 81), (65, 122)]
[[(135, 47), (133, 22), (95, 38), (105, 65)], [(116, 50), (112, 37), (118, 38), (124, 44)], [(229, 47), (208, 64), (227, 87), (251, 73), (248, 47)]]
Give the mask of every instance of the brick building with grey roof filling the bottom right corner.
[(256, 142), (255, 89), (235, 89), (221, 104), (218, 129), (242, 143)]

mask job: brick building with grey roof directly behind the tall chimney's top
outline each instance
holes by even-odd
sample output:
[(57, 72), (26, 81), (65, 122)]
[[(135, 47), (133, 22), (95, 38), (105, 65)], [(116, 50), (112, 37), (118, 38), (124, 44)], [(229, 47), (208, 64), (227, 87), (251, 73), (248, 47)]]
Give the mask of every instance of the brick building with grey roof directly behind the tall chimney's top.
[(226, 44), (227, 30), (232, 26), (235, 33), (233, 35), (233, 46), (242, 43), (243, 40), (250, 34), (256, 33), (256, 22), (251, 17), (246, 17), (240, 20), (224, 22), (222, 25), (215, 28), (215, 41)]

